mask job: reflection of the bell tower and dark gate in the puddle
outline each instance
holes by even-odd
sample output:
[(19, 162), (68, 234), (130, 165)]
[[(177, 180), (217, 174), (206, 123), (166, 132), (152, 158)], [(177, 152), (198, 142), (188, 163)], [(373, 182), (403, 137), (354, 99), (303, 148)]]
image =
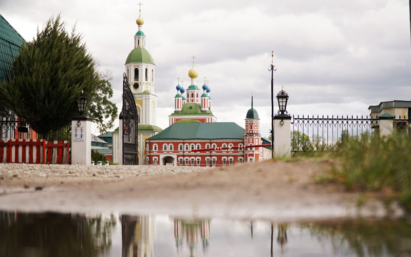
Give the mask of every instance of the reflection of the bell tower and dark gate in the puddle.
[(155, 224), (155, 217), (153, 215), (122, 215), (122, 256), (153, 257)]

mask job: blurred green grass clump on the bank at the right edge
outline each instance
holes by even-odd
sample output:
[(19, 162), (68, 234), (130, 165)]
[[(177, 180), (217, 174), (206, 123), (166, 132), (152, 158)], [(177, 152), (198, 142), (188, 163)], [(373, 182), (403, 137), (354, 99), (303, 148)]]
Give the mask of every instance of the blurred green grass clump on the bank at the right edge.
[(384, 199), (398, 199), (411, 210), (411, 137), (395, 134), (366, 143), (351, 140), (331, 155), (338, 164), (317, 181), (342, 183), (351, 191), (380, 192)]

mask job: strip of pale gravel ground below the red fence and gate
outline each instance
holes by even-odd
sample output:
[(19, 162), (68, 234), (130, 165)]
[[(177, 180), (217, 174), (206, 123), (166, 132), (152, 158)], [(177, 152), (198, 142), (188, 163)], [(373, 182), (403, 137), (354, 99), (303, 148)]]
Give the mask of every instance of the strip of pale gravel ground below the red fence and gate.
[(134, 177), (153, 174), (191, 173), (207, 170), (189, 166), (84, 166), (58, 164), (0, 163), (0, 178), (21, 177)]

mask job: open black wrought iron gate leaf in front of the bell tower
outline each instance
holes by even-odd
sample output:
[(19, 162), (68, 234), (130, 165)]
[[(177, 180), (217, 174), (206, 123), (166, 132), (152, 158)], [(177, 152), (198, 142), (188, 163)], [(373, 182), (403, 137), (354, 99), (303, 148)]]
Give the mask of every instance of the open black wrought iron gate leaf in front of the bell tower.
[(123, 74), (123, 165), (138, 164), (138, 113), (128, 79)]

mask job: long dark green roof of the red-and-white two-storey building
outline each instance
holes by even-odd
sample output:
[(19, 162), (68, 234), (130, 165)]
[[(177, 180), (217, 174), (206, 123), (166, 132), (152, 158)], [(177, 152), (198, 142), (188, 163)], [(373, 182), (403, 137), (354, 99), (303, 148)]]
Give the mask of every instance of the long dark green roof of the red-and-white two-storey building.
[(234, 122), (173, 123), (148, 140), (244, 139), (244, 128)]

